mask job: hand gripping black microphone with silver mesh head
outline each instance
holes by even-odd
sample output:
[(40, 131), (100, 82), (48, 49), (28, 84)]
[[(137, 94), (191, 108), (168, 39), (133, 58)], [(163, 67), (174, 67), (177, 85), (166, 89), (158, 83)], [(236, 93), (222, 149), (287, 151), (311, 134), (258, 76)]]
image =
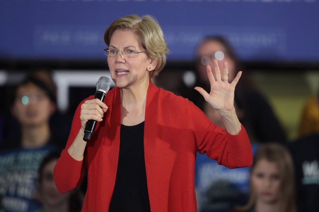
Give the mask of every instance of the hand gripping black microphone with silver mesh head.
[[(107, 106), (103, 103), (106, 93), (110, 89), (111, 81), (108, 77), (101, 76), (96, 83), (96, 92), (93, 100), (87, 100), (81, 105), (81, 122), (84, 127), (83, 140), (89, 141), (94, 133), (97, 121), (100, 121)], [(104, 111), (104, 110), (105, 111)], [(89, 120), (88, 120), (89, 119)]]

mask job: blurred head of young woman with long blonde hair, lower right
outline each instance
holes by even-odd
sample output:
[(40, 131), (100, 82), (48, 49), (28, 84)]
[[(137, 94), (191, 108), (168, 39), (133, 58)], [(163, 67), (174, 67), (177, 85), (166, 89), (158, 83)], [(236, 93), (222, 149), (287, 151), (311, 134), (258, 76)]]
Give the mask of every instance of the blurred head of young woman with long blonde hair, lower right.
[(250, 173), (249, 201), (236, 212), (296, 212), (294, 167), (289, 151), (282, 145), (261, 145)]

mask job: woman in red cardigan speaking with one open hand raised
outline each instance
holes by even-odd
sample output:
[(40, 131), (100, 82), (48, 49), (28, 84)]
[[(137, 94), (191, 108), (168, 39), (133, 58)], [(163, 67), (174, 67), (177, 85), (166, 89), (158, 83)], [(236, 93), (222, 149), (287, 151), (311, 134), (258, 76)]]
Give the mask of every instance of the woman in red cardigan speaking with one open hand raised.
[[(249, 138), (234, 109), (241, 72), (229, 83), (215, 60), (216, 78), (206, 67), (210, 93), (195, 88), (218, 110), (225, 131), (189, 100), (153, 85), (151, 78), (165, 66), (168, 53), (155, 18), (119, 18), (107, 28), (104, 41), (116, 87), (104, 102), (90, 96), (77, 108), (54, 168), (57, 188), (64, 193), (77, 187), (87, 167), (82, 211), (196, 211), (197, 152), (229, 168), (252, 163)], [(227, 73), (226, 62), (223, 68)], [(88, 120), (98, 123), (85, 142)]]

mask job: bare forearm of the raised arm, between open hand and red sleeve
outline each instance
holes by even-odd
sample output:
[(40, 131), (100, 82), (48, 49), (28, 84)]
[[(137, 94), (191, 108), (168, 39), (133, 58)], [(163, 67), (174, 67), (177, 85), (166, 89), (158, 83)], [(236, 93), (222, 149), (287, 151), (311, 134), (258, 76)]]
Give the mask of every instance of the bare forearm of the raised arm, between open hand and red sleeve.
[(229, 134), (237, 135), (241, 131), (241, 123), (238, 120), (235, 108), (229, 111), (218, 110), (218, 114), (223, 120), (223, 123)]

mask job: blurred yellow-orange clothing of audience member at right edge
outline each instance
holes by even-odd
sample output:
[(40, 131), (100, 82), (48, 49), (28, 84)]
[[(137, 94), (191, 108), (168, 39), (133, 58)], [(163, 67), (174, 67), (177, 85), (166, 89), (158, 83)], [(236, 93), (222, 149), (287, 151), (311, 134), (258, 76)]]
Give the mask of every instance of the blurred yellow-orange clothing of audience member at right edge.
[(301, 115), (299, 136), (319, 132), (319, 91), (308, 98)]

